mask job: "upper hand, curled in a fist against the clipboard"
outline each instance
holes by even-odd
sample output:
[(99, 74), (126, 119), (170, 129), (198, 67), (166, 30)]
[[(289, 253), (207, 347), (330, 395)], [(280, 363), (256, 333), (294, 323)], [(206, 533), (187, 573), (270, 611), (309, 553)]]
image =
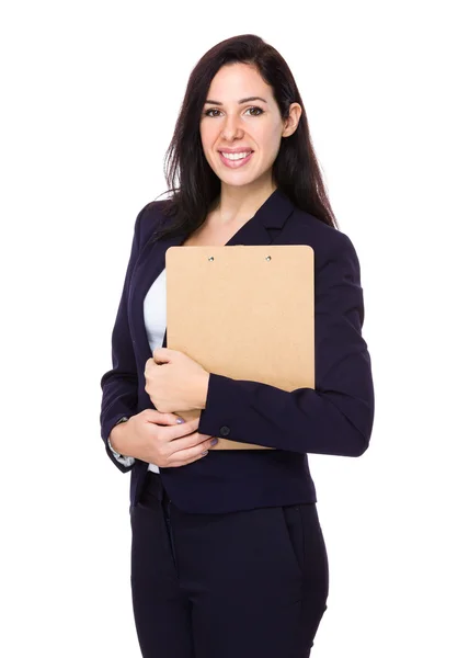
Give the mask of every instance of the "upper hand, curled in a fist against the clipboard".
[(145, 390), (162, 413), (204, 409), (208, 378), (199, 363), (178, 350), (158, 348), (145, 364)]

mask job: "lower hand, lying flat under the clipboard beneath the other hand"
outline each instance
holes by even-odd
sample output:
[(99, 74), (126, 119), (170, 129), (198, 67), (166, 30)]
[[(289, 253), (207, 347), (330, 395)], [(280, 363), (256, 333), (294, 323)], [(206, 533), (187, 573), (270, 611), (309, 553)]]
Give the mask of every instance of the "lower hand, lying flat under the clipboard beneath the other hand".
[(201, 418), (178, 423), (176, 413), (144, 409), (111, 431), (110, 442), (122, 455), (136, 457), (163, 468), (185, 466), (205, 456), (213, 436), (199, 434)]

